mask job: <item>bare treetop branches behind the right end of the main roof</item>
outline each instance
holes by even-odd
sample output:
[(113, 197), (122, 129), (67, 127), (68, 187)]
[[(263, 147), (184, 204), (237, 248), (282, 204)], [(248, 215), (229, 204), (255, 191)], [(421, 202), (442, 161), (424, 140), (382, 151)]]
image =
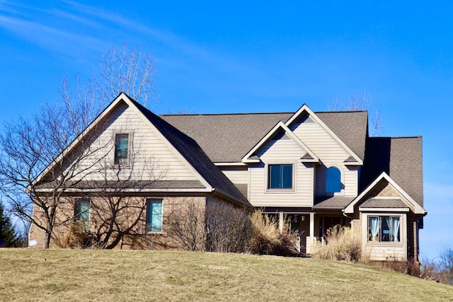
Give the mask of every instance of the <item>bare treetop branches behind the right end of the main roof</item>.
[(327, 105), (330, 111), (340, 110), (368, 110), (369, 117), (369, 135), (372, 137), (380, 137), (384, 134), (384, 124), (382, 123), (379, 109), (372, 109), (372, 102), (369, 95), (365, 92), (350, 96), (348, 100), (343, 98), (334, 98)]

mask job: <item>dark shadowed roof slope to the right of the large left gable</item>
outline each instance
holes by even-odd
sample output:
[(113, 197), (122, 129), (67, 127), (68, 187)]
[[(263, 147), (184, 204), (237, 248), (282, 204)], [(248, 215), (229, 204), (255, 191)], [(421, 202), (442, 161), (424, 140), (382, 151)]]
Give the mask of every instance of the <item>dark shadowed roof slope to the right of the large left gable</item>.
[[(132, 99), (131, 99), (132, 100)], [(207, 182), (214, 187), (217, 192), (224, 194), (224, 196), (230, 199), (240, 202), (244, 207), (252, 207), (247, 201), (246, 197), (239, 192), (237, 187), (217, 168), (210, 158), (207, 157), (205, 152), (193, 139), (180, 132), (178, 129), (173, 127), (168, 122), (162, 120), (160, 117), (155, 115), (153, 112), (144, 108), (144, 106), (132, 100), (132, 103), (143, 113), (145, 117), (154, 124), (161, 134), (168, 139), (176, 150), (190, 163), (190, 165), (197, 170), (198, 173)]]

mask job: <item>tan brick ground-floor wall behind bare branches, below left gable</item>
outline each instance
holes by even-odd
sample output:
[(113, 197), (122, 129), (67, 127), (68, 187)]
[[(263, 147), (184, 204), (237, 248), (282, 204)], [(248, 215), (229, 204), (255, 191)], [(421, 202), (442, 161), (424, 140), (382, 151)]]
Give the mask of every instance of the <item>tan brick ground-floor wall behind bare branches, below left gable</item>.
[[(148, 233), (146, 230), (147, 198), (163, 201), (162, 232)], [(50, 248), (66, 248), (71, 224), (74, 223), (74, 202), (80, 197), (67, 197), (59, 204), (57, 221), (62, 223), (54, 228)], [(204, 211), (206, 197), (92, 197), (89, 218), (89, 232), (98, 239), (105, 240), (111, 248), (125, 249), (176, 249), (178, 242), (173, 240), (166, 229), (166, 221), (171, 211), (177, 211), (185, 202), (195, 202)], [(40, 223), (43, 211), (34, 208), (34, 218)], [(115, 225), (108, 223), (115, 216)], [(112, 227), (110, 227), (112, 226)], [(108, 240), (105, 238), (108, 237)], [(36, 240), (35, 248), (42, 248), (45, 231), (32, 226), (30, 240)], [(114, 246), (113, 246), (114, 245)]]

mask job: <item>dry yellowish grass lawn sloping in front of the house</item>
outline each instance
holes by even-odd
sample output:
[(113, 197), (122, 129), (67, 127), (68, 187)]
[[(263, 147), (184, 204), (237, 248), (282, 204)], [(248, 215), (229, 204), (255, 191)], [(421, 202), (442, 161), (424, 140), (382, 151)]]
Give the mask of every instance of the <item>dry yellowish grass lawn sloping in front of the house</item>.
[(132, 250), (0, 250), (1, 301), (453, 301), (453, 286), (322, 260)]

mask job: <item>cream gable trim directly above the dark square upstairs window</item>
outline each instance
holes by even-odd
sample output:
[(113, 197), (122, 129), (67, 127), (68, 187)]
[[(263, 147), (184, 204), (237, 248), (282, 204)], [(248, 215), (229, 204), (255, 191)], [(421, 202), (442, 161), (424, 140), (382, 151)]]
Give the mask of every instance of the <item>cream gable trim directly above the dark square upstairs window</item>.
[(289, 139), (292, 139), (292, 141), (294, 141), (294, 143), (296, 143), (305, 152), (305, 155), (302, 156), (301, 161), (311, 163), (319, 162), (318, 156), (316, 156), (316, 154), (313, 151), (311, 151), (309, 147), (307, 147), (296, 135), (294, 135), (294, 133), (292, 133), (292, 131), (283, 122), (278, 122), (273, 127), (273, 129), (271, 129), (270, 132), (268, 132), (268, 134), (266, 134), (263, 137), (263, 139), (258, 141), (258, 144), (253, 146), (253, 148), (250, 151), (248, 151), (248, 153), (245, 156), (243, 156), (242, 162), (259, 163), (260, 159), (257, 158), (258, 156), (255, 156), (256, 151), (258, 151), (267, 141), (275, 137), (275, 135), (280, 131), (285, 132)]

